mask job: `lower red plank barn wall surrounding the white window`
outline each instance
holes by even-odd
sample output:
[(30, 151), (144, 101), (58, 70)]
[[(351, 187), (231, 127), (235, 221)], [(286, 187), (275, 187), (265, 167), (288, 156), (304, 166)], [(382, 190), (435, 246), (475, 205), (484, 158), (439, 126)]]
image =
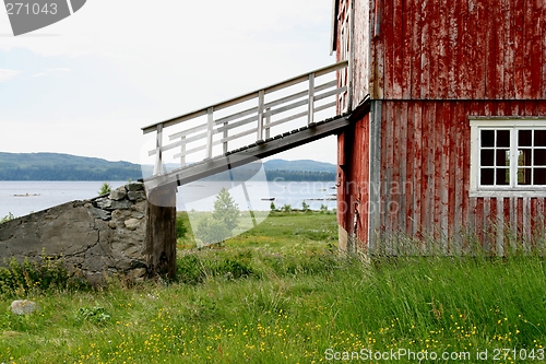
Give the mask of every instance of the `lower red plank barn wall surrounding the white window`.
[(452, 251), (476, 234), (500, 254), (507, 232), (495, 226), (510, 225), (530, 244), (543, 231), (533, 219), (544, 218), (544, 198), (468, 197), (468, 116), (546, 116), (546, 101), (383, 102), (381, 240), (444, 238), (441, 248)]

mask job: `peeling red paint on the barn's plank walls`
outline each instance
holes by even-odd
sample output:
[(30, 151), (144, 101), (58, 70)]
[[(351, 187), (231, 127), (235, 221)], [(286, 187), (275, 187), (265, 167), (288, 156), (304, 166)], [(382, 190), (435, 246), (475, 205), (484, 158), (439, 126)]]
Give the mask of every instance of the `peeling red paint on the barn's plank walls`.
[[(340, 0), (343, 16), (351, 1)], [(546, 117), (546, 1), (368, 0), (353, 5), (353, 105), (365, 94), (380, 102), (381, 132), (370, 140), (373, 115), (367, 115), (339, 137), (340, 183), (347, 185), (337, 195), (340, 225), (364, 246), (373, 214), (385, 239), (399, 233), (447, 237), (459, 244), (447, 246), (450, 250), (464, 248), (465, 236), (476, 234), (484, 246), (501, 253), (509, 226), (511, 234), (535, 244), (533, 234), (544, 231), (538, 219), (545, 198), (470, 197), (468, 116)], [(378, 14), (377, 28), (370, 24)], [(345, 17), (339, 21), (346, 24)], [(361, 209), (369, 189), (361, 191), (370, 185), (375, 142), (380, 146), (380, 211), (368, 213)], [(389, 188), (394, 185), (405, 188)], [(357, 209), (343, 210), (355, 201)]]

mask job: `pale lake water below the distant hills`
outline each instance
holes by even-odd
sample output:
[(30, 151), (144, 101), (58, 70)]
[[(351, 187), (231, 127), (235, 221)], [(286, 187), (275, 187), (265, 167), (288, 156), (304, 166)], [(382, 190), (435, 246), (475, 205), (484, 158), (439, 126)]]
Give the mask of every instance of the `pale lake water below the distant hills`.
[[(73, 200), (91, 199), (97, 196), (104, 181), (0, 181), (0, 219), (10, 212), (23, 216), (31, 212), (41, 211), (57, 204)], [(110, 181), (112, 188), (127, 181)], [(215, 193), (222, 187), (238, 203), (239, 209), (251, 208), (257, 211), (269, 211), (273, 202), (276, 208), (290, 204), (301, 209), (302, 201), (313, 210), (321, 204), (330, 210), (335, 208), (335, 183), (295, 183), (295, 181), (247, 181), (245, 185), (217, 181), (197, 181), (179, 188), (177, 210), (212, 211)], [(245, 193), (245, 189), (247, 193)], [(246, 196), (249, 198), (247, 199)], [(273, 199), (271, 201), (270, 199)], [(250, 203), (248, 202), (250, 201)], [(250, 206), (249, 206), (250, 204)]]

